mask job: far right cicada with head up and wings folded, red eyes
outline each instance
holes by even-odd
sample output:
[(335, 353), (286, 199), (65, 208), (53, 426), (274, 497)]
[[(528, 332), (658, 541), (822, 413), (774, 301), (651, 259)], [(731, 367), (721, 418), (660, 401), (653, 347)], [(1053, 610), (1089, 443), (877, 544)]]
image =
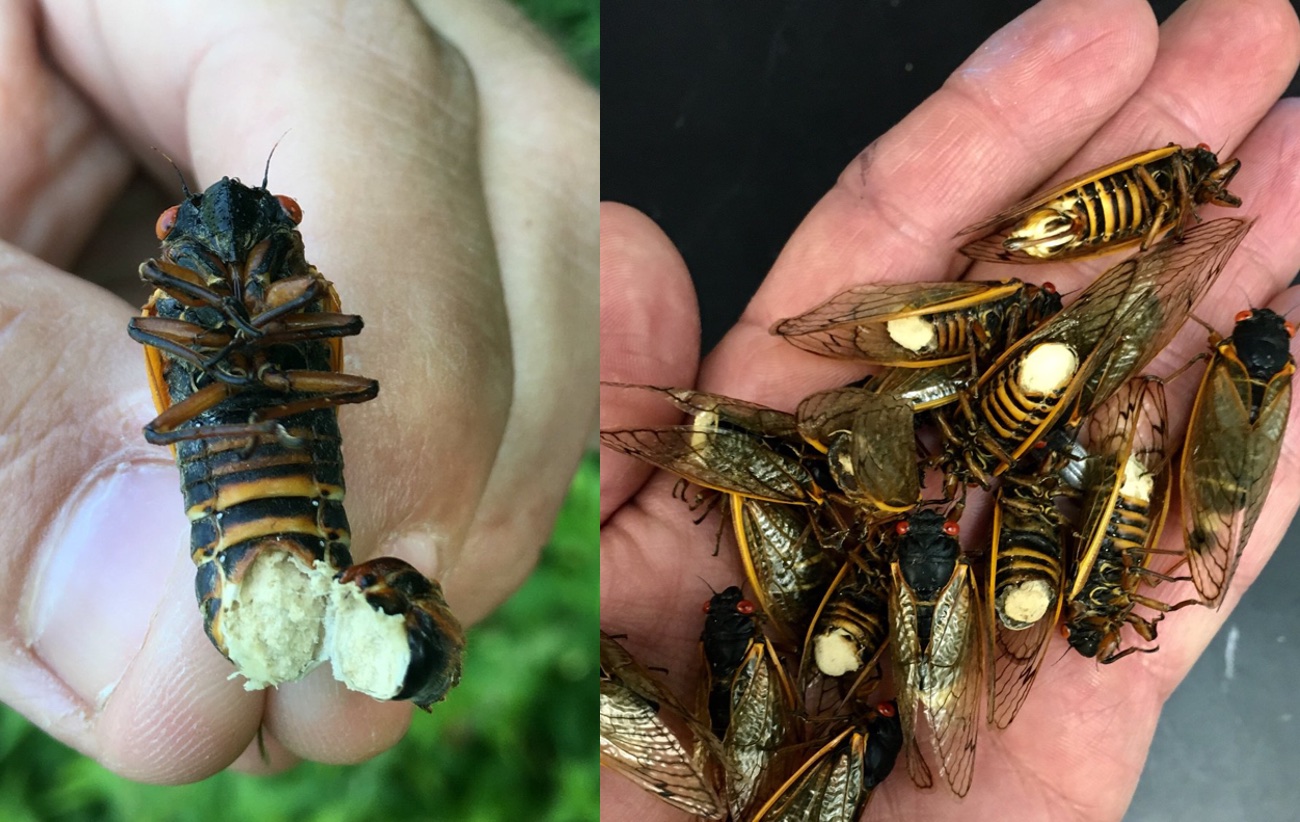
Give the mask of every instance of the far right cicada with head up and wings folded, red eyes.
[(1223, 602), (1273, 484), (1291, 411), (1294, 328), (1268, 308), (1243, 311), (1196, 393), (1183, 447), (1187, 559), (1196, 590)]

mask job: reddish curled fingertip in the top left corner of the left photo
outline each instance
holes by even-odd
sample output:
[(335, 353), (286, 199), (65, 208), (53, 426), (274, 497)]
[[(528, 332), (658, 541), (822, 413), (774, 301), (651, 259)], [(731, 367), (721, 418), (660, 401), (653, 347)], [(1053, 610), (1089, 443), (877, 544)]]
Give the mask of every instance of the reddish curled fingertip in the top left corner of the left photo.
[(0, 7), (0, 239), (72, 263), (131, 159), (40, 49), (31, 3)]

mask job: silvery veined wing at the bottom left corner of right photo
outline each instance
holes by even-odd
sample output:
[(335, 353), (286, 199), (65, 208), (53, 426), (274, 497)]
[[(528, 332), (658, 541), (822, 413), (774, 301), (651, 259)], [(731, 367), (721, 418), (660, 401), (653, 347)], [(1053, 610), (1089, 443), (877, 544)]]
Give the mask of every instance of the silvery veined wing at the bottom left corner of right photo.
[(666, 802), (706, 819), (727, 809), (653, 704), (625, 685), (601, 682), (601, 763)]

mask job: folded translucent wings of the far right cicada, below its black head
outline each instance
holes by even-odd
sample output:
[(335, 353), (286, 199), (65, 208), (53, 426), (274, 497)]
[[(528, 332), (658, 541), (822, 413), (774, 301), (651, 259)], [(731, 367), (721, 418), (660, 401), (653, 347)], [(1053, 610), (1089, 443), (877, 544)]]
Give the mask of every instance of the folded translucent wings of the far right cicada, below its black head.
[(1197, 393), (1182, 464), (1187, 561), (1197, 593), (1213, 607), (1222, 603), (1273, 484), (1294, 371), (1252, 425), (1231, 371), (1219, 363), (1212, 362)]

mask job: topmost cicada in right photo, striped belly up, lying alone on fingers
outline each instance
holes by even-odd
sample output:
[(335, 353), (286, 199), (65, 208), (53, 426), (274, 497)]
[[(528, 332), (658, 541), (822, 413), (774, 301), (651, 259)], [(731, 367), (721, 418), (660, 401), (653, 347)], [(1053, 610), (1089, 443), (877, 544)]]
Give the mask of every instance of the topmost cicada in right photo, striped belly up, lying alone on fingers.
[(1095, 256), (1178, 232), (1204, 204), (1236, 208), (1227, 190), (1240, 160), (1219, 163), (1209, 146), (1170, 143), (1143, 151), (1069, 179), (963, 234), (985, 235), (962, 254), (993, 263), (1045, 263)]

